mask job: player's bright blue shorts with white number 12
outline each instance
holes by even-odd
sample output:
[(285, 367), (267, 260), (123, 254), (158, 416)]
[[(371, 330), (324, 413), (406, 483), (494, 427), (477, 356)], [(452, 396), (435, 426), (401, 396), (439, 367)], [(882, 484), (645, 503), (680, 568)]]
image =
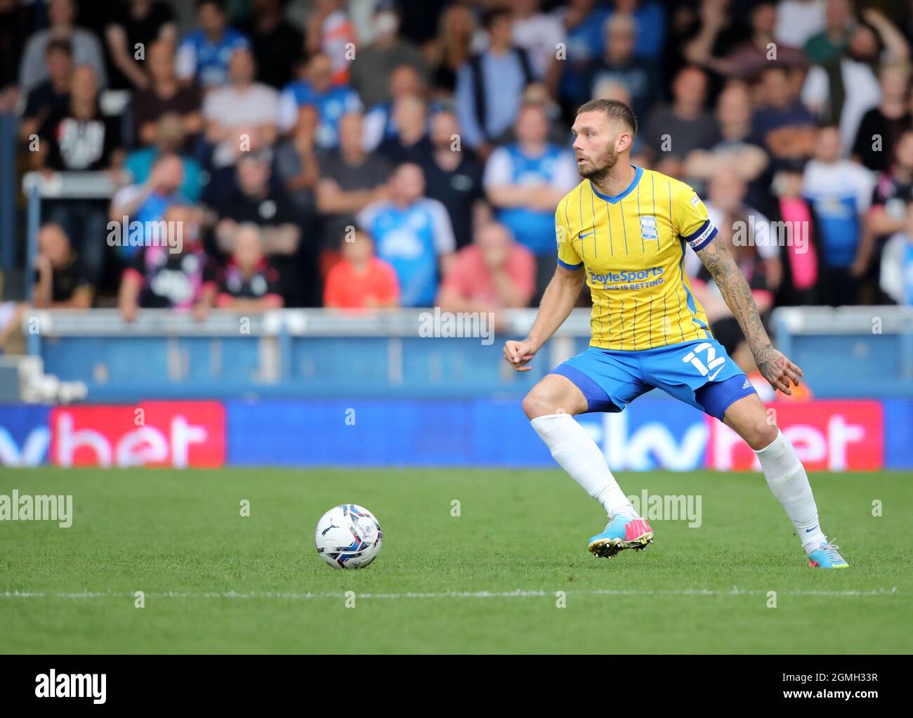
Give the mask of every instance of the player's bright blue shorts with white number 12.
[(619, 352), (591, 346), (557, 366), (586, 396), (587, 411), (621, 411), (635, 398), (662, 389), (722, 420), (729, 405), (754, 394), (745, 373), (716, 339), (696, 339)]

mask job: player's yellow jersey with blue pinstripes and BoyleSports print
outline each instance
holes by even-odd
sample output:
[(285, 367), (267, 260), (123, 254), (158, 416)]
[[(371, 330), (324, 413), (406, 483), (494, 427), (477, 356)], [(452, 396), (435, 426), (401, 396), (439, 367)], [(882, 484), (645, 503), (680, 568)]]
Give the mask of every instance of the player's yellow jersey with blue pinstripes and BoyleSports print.
[(606, 196), (583, 180), (558, 204), (555, 233), (559, 264), (586, 270), (591, 346), (638, 351), (711, 337), (685, 245), (703, 248), (717, 229), (684, 182), (635, 167), (631, 185)]

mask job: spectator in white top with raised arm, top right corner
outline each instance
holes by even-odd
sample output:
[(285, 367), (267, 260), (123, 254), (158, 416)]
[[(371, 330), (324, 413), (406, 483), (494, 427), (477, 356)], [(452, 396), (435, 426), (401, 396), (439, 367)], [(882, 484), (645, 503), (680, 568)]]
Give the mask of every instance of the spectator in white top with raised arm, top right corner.
[(826, 68), (809, 70), (802, 90), (807, 107), (827, 121), (839, 122), (844, 154), (853, 148), (863, 115), (881, 101), (876, 63), (905, 62), (909, 57), (907, 40), (885, 16), (870, 8), (863, 17), (866, 22), (855, 26), (845, 55)]

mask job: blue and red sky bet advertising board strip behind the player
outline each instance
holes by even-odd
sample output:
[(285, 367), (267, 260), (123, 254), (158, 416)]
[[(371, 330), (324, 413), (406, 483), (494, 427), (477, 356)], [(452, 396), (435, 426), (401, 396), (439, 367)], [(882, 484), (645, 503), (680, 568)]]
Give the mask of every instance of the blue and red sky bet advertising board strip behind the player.
[[(913, 400), (768, 406), (810, 470), (913, 469)], [(580, 418), (614, 470), (757, 468), (731, 429), (677, 402)], [(0, 406), (0, 465), (42, 464), (554, 466), (512, 399)]]

